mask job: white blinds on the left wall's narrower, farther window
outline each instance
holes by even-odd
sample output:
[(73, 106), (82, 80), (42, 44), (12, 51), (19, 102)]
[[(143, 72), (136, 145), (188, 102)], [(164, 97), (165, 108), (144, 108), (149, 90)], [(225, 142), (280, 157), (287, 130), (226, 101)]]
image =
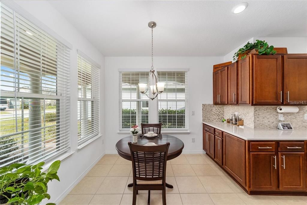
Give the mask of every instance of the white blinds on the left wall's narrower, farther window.
[(100, 69), (78, 54), (78, 144), (99, 134)]

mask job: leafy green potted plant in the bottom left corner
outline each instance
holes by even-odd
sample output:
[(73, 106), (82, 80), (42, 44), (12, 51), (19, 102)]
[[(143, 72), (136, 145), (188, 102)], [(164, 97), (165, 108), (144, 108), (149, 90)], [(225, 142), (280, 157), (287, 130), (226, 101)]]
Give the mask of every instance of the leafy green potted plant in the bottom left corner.
[(60, 160), (53, 162), (46, 172), (41, 172), (45, 162), (35, 165), (16, 163), (0, 168), (1, 204), (32, 205), (50, 199), (47, 183), (52, 179), (60, 181), (57, 175), (60, 163)]

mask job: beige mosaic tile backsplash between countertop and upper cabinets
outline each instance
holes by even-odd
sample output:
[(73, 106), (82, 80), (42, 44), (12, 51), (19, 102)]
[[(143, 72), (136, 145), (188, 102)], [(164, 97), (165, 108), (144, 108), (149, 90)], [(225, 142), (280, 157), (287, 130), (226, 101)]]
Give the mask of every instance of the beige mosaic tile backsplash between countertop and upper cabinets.
[(297, 113), (283, 113), (284, 121), (278, 120), (277, 106), (233, 106), (203, 104), (203, 121), (221, 121), (230, 118), (232, 113), (238, 112), (244, 120), (244, 125), (251, 128), (276, 129), (278, 123), (291, 123), (293, 128), (307, 128), (307, 106), (297, 106)]

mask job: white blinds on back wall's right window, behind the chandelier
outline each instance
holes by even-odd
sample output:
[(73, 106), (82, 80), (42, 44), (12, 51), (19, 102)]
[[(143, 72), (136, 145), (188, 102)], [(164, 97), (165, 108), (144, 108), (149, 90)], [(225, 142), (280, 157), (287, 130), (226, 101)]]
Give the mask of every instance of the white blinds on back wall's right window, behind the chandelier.
[(188, 128), (188, 72), (158, 71), (158, 81), (165, 82), (158, 95), (158, 120), (162, 128)]

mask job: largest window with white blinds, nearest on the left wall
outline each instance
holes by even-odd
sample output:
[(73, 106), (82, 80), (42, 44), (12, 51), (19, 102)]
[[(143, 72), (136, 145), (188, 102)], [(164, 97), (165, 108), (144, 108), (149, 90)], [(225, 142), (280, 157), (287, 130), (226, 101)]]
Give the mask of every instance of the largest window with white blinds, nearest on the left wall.
[(1, 4), (0, 164), (70, 147), (70, 49)]

